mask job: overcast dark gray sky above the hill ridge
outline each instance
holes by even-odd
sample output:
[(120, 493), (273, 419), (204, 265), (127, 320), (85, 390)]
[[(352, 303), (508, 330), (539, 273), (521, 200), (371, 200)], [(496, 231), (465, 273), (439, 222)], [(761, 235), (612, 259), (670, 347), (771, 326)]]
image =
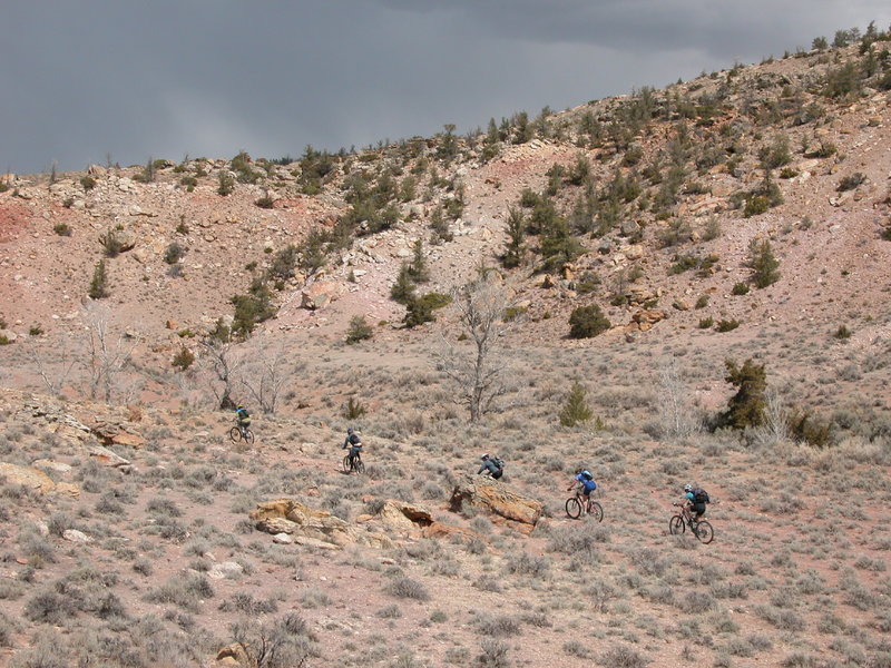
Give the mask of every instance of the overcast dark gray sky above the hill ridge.
[(0, 171), (298, 157), (662, 88), (888, 0), (35, 0), (0, 12)]

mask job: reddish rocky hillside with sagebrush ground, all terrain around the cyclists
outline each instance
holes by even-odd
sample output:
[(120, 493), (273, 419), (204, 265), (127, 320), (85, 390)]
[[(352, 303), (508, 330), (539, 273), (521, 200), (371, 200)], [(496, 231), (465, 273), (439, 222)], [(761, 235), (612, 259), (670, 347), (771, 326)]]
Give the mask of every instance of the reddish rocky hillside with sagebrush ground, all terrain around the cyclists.
[(889, 665), (888, 37), (3, 176), (0, 665)]

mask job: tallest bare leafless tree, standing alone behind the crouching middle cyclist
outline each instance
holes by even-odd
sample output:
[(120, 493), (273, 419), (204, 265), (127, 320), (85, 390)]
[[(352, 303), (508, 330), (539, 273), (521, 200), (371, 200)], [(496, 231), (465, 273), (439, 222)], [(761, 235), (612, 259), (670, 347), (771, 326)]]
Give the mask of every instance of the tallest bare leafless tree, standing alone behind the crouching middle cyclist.
[(438, 369), (459, 386), (462, 403), (477, 422), (499, 396), (510, 390), (509, 370), (499, 337), (512, 323), (505, 320), (508, 293), (492, 272), (480, 272), (474, 281), (453, 291), (460, 321), (472, 347), (459, 350), (443, 341)]

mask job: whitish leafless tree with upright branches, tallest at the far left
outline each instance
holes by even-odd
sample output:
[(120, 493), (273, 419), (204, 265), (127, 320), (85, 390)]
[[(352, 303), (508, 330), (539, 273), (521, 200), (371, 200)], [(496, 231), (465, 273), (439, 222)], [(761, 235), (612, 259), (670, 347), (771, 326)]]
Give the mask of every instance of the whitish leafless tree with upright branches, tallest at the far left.
[(87, 371), (90, 379), (90, 397), (101, 392), (111, 401), (118, 374), (130, 362), (136, 341), (127, 341), (123, 332), (115, 332), (107, 306), (92, 303), (84, 311), (87, 337)]

